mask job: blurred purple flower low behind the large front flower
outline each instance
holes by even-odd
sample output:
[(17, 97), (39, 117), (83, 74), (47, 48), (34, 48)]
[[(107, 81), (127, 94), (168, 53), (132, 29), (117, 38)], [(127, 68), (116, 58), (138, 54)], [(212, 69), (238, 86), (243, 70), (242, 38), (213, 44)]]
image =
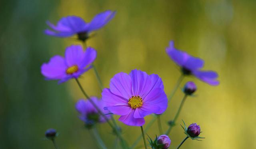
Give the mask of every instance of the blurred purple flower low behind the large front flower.
[[(98, 99), (97, 97), (90, 97), (90, 99), (92, 99), (98, 108), (102, 110), (103, 114), (110, 113), (109, 111), (104, 110), (106, 105), (102, 99)], [(96, 123), (106, 122), (106, 119), (104, 119), (104, 117), (98, 113), (97, 109), (88, 100), (78, 100), (76, 102), (76, 110), (80, 113), (79, 118), (84, 121), (86, 127), (88, 128), (92, 127)], [(106, 117), (109, 119), (110, 115), (106, 115)]]

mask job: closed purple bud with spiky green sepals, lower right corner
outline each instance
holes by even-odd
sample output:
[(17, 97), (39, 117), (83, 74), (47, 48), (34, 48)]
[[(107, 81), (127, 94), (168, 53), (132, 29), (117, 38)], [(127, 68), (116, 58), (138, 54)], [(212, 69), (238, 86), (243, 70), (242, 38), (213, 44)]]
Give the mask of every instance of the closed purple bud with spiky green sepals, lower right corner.
[[(183, 121), (183, 120), (182, 120)], [(200, 126), (197, 125), (196, 123), (192, 123), (191, 125), (186, 127), (185, 122), (183, 121), (184, 127), (181, 125), (181, 127), (184, 129), (184, 133), (190, 137), (192, 140), (198, 140), (198, 139), (204, 139), (204, 137), (199, 137), (200, 135)], [(198, 140), (201, 141), (201, 140)]]

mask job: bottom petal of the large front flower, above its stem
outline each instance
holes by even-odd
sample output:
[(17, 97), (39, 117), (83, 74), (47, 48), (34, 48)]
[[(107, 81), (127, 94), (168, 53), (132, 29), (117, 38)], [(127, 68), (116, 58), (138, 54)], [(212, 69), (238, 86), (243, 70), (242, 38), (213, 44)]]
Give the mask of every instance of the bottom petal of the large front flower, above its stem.
[(134, 112), (135, 110), (131, 110), (129, 114), (127, 115), (122, 115), (118, 119), (119, 121), (122, 121), (124, 124), (129, 125), (129, 126), (142, 126), (145, 123), (144, 118), (134, 118)]

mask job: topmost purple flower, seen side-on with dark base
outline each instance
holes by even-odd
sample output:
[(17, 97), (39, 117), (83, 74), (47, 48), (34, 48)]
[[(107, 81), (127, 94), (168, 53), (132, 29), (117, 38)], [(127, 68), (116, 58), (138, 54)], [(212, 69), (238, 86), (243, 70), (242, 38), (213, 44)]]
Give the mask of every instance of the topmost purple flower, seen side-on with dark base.
[(115, 14), (116, 12), (106, 10), (105, 12), (97, 14), (92, 21), (88, 23), (78, 16), (64, 17), (60, 19), (56, 26), (47, 21), (46, 24), (48, 24), (53, 31), (46, 29), (45, 34), (62, 38), (77, 34), (78, 39), (85, 41), (89, 38), (88, 34), (90, 32), (105, 26)]

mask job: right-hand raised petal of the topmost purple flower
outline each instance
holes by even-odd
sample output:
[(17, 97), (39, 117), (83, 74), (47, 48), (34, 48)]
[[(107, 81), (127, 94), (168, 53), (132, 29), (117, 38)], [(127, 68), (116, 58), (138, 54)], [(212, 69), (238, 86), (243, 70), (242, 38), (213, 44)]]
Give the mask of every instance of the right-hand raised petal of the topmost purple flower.
[(116, 12), (112, 12), (111, 10), (106, 10), (105, 12), (97, 14), (90, 22), (88, 32), (102, 28), (115, 16), (115, 14)]

